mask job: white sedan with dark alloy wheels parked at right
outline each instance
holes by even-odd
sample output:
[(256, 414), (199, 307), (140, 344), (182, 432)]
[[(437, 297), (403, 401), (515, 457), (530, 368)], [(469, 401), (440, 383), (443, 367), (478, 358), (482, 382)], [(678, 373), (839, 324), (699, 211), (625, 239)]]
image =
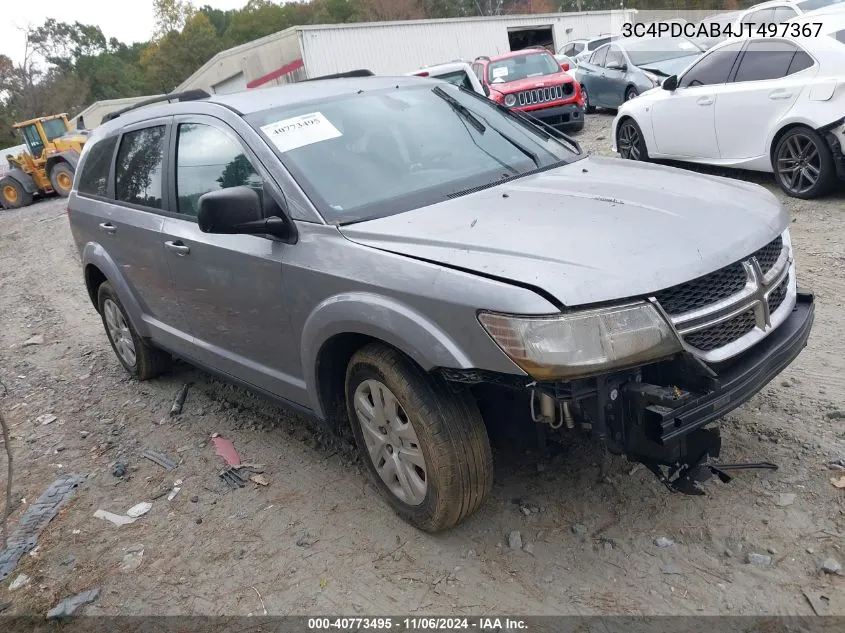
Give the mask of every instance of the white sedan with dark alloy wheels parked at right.
[[(800, 22), (798, 22), (800, 26)], [(775, 174), (814, 198), (845, 179), (845, 24), (796, 38), (726, 40), (620, 106), (613, 149)]]

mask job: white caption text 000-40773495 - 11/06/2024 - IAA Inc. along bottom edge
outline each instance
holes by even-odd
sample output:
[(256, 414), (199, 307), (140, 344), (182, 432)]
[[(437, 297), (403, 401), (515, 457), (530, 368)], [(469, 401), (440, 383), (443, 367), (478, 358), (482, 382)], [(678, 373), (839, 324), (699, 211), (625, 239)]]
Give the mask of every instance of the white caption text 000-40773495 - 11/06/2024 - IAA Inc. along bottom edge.
[(308, 618), (309, 631), (527, 631), (528, 625), (520, 618), (439, 618), (439, 617), (373, 617), (373, 618)]

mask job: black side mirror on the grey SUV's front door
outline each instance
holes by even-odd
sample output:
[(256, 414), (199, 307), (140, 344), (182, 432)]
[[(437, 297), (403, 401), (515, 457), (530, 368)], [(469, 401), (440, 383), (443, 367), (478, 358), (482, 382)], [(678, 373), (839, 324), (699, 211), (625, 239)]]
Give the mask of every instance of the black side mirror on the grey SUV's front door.
[(261, 198), (250, 187), (229, 187), (203, 194), (197, 221), (203, 233), (272, 235), (281, 239), (290, 239), (292, 233), (284, 218), (264, 217)]

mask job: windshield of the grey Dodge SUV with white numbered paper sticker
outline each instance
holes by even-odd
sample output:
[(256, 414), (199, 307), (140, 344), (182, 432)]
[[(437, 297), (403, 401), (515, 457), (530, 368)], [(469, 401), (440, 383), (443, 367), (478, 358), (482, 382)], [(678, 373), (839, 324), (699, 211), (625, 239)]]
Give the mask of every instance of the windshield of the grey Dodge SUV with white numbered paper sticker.
[(489, 99), (442, 82), (273, 108), (246, 119), (332, 223), (409, 211), (580, 158)]

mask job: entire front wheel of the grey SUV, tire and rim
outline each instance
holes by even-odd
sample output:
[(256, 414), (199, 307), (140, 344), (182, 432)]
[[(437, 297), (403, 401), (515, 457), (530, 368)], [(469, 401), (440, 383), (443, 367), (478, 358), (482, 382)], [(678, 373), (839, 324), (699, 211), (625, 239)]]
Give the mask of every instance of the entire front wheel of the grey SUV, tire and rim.
[(361, 456), (400, 517), (438, 532), (479, 508), (492, 486), (493, 457), (468, 393), (372, 344), (349, 362), (346, 403)]

